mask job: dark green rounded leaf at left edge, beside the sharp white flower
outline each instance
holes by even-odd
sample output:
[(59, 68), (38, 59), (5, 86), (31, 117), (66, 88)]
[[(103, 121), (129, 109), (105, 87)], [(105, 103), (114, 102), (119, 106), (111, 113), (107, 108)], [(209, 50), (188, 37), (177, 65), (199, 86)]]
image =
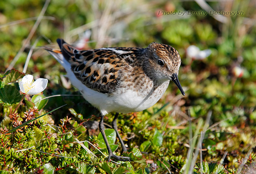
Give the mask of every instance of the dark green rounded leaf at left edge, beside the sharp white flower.
[(19, 103), (20, 99), (20, 92), (15, 86), (5, 85), (3, 88), (0, 88), (0, 104), (12, 105)]

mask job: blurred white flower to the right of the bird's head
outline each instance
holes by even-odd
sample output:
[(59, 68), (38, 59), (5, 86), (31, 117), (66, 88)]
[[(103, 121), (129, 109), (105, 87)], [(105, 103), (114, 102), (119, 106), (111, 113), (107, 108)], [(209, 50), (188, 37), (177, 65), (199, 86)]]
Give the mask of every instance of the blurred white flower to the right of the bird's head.
[(200, 49), (195, 45), (190, 45), (187, 48), (187, 56), (190, 58), (193, 58), (193, 59), (202, 60), (202, 59), (210, 56), (211, 53), (212, 53), (212, 51), (209, 49), (200, 51)]

